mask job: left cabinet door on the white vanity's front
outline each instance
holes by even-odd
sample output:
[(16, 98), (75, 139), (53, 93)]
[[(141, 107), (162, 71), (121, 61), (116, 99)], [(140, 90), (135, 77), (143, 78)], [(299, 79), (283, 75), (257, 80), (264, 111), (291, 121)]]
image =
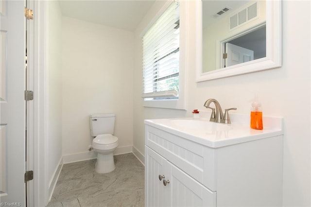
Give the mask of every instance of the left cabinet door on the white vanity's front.
[(145, 207), (164, 207), (167, 204), (166, 192), (163, 185), (163, 178), (159, 180), (159, 175), (165, 175), (166, 159), (158, 155), (145, 146)]

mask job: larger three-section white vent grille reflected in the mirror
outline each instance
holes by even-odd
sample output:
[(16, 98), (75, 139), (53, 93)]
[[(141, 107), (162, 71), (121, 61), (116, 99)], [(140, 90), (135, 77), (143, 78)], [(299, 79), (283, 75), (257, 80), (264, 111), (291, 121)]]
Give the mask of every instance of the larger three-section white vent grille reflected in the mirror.
[(258, 16), (257, 2), (243, 8), (240, 12), (230, 17), (230, 29), (233, 29)]

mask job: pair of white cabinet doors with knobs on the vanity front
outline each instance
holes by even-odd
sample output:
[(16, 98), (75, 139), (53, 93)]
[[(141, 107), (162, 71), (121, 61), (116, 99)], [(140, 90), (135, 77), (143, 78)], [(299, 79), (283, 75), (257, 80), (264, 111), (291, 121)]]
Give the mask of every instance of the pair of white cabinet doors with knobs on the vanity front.
[[(145, 190), (147, 207), (216, 207), (216, 193), (181, 171), (171, 162), (145, 147)], [(159, 175), (163, 176), (161, 180)], [(166, 181), (166, 185), (164, 182)]]

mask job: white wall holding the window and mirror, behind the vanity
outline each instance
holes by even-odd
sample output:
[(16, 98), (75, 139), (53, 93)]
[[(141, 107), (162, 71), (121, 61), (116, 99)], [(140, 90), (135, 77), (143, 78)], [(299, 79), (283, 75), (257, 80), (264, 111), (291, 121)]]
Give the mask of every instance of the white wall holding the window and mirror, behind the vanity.
[[(182, 1), (181, 1), (182, 2)], [(163, 2), (141, 21), (135, 33), (134, 71), (134, 147), (144, 153), (144, 119), (191, 116), (193, 109), (206, 110), (208, 98), (217, 99), (223, 108), (237, 107), (232, 113), (249, 114), (253, 92), (259, 92), (264, 116), (284, 118), (283, 205), (311, 206), (311, 63), (310, 1), (283, 1), (283, 66), (255, 73), (196, 83), (195, 11), (190, 3), (187, 75), (187, 111), (144, 108), (141, 92), (140, 35)], [(299, 15), (297, 15), (299, 11)], [(181, 14), (182, 15), (182, 14)], [(182, 27), (182, 22), (181, 22)], [(262, 152), (264, 153), (264, 152)]]

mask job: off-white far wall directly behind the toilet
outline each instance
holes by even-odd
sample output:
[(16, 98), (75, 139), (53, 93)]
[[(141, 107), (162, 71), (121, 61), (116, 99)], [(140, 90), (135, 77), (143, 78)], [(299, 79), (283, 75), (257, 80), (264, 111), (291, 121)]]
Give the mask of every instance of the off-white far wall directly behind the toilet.
[(115, 113), (119, 148), (132, 150), (134, 33), (63, 17), (62, 50), (64, 162), (88, 155), (90, 114)]

